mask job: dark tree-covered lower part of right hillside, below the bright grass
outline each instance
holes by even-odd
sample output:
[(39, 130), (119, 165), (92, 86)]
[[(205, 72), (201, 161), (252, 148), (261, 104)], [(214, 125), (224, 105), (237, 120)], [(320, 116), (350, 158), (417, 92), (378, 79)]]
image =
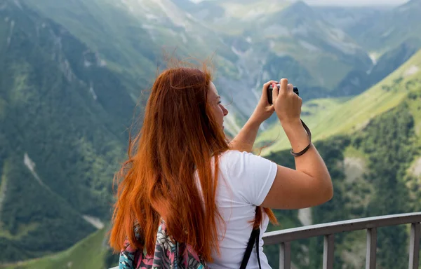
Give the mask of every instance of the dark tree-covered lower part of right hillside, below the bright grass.
[[(421, 208), (421, 85), (410, 90), (401, 104), (375, 116), (356, 132), (335, 135), (316, 142), (333, 179), (333, 199), (310, 210), (311, 223), (326, 223), (367, 216), (419, 211)], [(267, 158), (294, 168), (289, 151), (271, 153)], [(418, 171), (418, 172), (416, 172)], [(277, 211), (281, 224), (293, 221), (300, 211)], [(308, 214), (308, 212), (307, 212)], [(285, 219), (288, 219), (286, 221)], [(298, 223), (298, 224), (297, 224)], [(377, 265), (406, 268), (409, 226), (377, 231)], [(323, 237), (293, 242), (296, 268), (321, 268)], [(335, 235), (335, 267), (363, 268), (364, 231)], [(269, 262), (278, 268), (278, 250), (266, 247)], [(399, 265), (399, 266), (398, 266)]]

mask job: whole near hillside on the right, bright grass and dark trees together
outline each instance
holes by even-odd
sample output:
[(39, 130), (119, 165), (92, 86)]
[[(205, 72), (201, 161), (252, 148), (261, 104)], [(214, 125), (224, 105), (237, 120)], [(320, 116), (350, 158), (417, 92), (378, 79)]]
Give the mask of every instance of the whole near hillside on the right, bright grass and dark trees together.
[[(312, 100), (306, 104), (310, 126), (333, 179), (335, 194), (311, 209), (280, 210), (281, 228), (341, 221), (421, 209), (421, 50), (393, 74), (349, 100)], [(330, 107), (329, 111), (323, 106)], [(318, 122), (313, 122), (319, 120)], [(265, 152), (294, 168), (289, 150)], [(271, 230), (279, 227), (271, 227)], [(377, 266), (408, 266), (406, 226), (377, 230)], [(292, 242), (295, 268), (321, 268), (323, 237)], [(363, 268), (366, 231), (335, 235), (335, 268)], [(272, 268), (279, 249), (265, 247)]]

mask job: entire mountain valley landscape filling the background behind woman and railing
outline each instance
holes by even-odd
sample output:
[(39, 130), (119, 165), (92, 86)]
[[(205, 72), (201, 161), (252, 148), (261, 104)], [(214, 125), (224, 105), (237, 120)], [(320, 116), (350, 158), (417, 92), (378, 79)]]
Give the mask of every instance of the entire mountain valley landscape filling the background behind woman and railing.
[[(300, 88), (302, 119), (335, 195), (312, 209), (276, 211), (281, 225), (269, 230), (419, 211), (420, 4), (1, 1), (0, 268), (116, 265), (106, 243), (112, 179), (156, 69), (174, 50), (212, 57), (229, 136), (262, 83), (287, 77)], [(294, 167), (276, 116), (261, 127), (256, 152), (262, 147), (262, 156)], [(408, 236), (406, 227), (379, 230), (381, 268), (407, 267), (399, 246)], [(295, 268), (321, 267), (322, 240), (292, 245)], [(338, 235), (335, 268), (363, 267), (365, 240)], [(276, 247), (265, 253), (278, 268)]]

